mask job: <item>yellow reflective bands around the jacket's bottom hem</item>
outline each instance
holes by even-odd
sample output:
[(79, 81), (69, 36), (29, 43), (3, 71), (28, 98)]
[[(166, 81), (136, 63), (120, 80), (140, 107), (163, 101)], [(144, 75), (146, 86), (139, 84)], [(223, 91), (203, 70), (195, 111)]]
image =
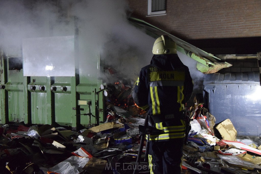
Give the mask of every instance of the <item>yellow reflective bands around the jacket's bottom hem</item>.
[(180, 121), (182, 123), (182, 125), (180, 126), (163, 127), (162, 122), (156, 123), (156, 128), (160, 130), (164, 130), (164, 133), (160, 135), (150, 135), (150, 140), (158, 141), (158, 140), (168, 140), (168, 139), (185, 137), (186, 124), (184, 120), (180, 120)]

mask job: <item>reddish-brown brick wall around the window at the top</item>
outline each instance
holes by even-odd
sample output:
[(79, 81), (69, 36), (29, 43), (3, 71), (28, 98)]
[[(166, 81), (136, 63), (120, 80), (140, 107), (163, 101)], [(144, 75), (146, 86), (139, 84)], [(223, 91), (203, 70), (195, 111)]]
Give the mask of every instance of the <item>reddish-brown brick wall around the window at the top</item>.
[(260, 0), (167, 0), (167, 15), (147, 15), (147, 0), (128, 0), (133, 17), (183, 39), (261, 36)]

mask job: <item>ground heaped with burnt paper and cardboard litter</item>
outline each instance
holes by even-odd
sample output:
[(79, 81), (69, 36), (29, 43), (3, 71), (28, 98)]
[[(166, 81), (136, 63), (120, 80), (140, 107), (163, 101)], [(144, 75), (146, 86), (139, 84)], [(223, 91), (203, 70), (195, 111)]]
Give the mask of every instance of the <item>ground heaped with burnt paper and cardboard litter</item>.
[[(139, 125), (146, 111), (131, 98), (134, 81), (115, 78), (106, 88), (104, 123), (72, 131), (52, 125), (0, 125), (0, 173), (149, 173)], [(105, 85), (104, 85), (105, 86)], [(187, 108), (191, 131), (183, 147), (182, 173), (260, 173), (260, 137), (239, 136), (230, 119), (216, 123), (204, 104)], [(140, 144), (140, 163), (135, 165)], [(175, 154), (173, 154), (175, 155)]]

